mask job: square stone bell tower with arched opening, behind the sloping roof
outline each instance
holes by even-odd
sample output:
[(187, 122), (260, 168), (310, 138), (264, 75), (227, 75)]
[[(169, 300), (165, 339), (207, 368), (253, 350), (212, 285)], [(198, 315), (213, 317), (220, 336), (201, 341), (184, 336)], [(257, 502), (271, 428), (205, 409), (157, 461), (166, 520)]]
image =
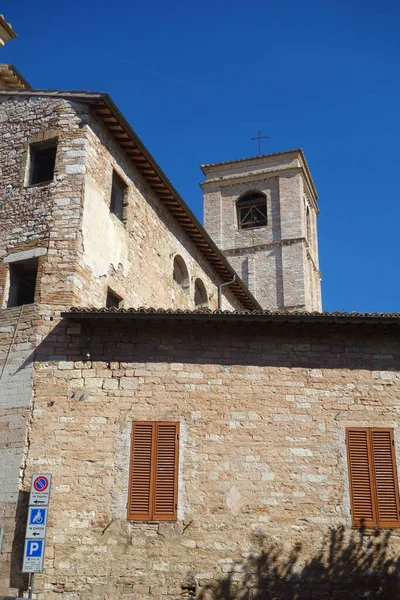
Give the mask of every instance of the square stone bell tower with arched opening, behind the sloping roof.
[(320, 311), (318, 196), (303, 151), (201, 169), (204, 226), (261, 306)]

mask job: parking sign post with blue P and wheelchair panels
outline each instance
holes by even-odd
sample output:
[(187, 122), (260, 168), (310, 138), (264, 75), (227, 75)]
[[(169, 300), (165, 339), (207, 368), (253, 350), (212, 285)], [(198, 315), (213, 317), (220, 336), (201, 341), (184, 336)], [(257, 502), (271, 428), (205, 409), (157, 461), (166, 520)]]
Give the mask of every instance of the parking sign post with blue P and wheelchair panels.
[(22, 573), (30, 574), (28, 598), (32, 598), (35, 573), (43, 571), (50, 488), (50, 474), (35, 473), (32, 475), (28, 520), (25, 532), (24, 560), (22, 564)]

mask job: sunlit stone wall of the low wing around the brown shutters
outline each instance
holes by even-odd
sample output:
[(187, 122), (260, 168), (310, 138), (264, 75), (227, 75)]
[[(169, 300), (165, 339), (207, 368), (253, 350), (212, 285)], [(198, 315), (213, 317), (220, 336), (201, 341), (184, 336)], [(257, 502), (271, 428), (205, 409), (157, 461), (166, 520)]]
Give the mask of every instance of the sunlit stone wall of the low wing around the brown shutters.
[[(399, 367), (398, 334), (384, 327), (58, 324), (37, 351), (24, 479), (27, 489), (32, 472), (53, 474), (39, 597), (172, 600), (188, 578), (198, 592), (241, 585), (260, 540), (281, 546), (282, 573), (308, 572), (333, 536), (327, 560), (344, 579), (346, 544), (357, 547), (345, 541), (345, 428), (393, 428), (399, 464)], [(126, 519), (134, 420), (181, 423), (177, 522)], [(396, 530), (385, 543), (389, 560)], [(332, 598), (332, 582), (316, 581), (318, 598)]]

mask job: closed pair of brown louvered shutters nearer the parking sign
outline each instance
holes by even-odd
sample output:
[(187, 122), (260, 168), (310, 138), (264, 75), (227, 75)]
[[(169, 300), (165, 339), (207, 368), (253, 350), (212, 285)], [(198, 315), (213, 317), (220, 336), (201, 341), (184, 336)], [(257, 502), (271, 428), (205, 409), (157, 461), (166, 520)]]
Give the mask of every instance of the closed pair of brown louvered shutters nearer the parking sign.
[(175, 521), (179, 423), (132, 423), (128, 519)]

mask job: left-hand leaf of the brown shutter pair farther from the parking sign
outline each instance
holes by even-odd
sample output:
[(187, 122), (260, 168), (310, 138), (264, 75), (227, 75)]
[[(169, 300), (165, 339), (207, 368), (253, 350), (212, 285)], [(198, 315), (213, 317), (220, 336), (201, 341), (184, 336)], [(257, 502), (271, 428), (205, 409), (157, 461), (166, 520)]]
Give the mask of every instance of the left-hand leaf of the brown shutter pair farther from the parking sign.
[(354, 527), (376, 527), (374, 475), (367, 428), (346, 430), (351, 516)]

